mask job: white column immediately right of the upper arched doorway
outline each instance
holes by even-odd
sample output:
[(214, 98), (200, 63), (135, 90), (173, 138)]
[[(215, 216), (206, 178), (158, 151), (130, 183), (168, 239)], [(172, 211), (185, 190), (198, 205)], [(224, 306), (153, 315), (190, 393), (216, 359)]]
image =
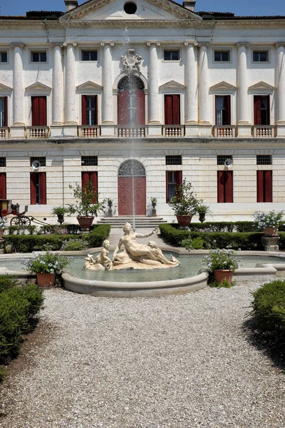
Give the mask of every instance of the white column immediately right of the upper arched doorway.
[(157, 58), (157, 47), (160, 46), (160, 43), (147, 41), (147, 46), (150, 47), (150, 59), (148, 64), (148, 123), (150, 125), (156, 125), (160, 124), (159, 74)]

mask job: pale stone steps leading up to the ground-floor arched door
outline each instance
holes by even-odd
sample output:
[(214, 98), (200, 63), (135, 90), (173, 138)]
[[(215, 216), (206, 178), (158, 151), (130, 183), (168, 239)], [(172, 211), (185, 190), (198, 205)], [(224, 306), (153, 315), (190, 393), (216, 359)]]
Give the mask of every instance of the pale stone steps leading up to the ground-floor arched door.
[[(97, 221), (98, 225), (108, 224), (112, 228), (123, 228), (125, 223), (133, 225), (133, 216), (131, 215), (120, 215), (118, 217), (102, 217)], [(147, 217), (147, 215), (136, 215), (135, 216), (135, 228), (155, 228), (161, 223), (166, 223), (162, 217)]]

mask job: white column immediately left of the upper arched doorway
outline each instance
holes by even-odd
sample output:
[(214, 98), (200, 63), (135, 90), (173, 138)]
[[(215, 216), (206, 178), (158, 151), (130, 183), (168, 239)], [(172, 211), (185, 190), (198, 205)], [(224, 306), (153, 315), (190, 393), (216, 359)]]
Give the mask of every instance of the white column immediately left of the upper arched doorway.
[(109, 125), (114, 123), (113, 111), (113, 61), (112, 47), (114, 43), (102, 42), (103, 46), (103, 68), (102, 68), (102, 124)]

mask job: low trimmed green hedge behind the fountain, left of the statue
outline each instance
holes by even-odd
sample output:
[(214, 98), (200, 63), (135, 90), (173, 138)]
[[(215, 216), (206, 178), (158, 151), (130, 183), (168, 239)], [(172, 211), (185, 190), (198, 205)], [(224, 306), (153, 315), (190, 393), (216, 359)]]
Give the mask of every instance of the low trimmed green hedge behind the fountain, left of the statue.
[(17, 253), (32, 253), (33, 251), (43, 251), (43, 245), (49, 245), (51, 250), (61, 250), (64, 240), (86, 239), (90, 247), (100, 247), (103, 240), (108, 238), (110, 225), (95, 225), (90, 233), (79, 235), (6, 235), (5, 245), (13, 245)]

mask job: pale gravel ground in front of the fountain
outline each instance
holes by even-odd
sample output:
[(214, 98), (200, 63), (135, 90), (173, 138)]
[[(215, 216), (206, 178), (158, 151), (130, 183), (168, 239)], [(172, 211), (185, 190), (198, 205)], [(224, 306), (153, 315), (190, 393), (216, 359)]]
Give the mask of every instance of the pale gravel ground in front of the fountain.
[(284, 373), (243, 329), (257, 286), (129, 300), (46, 291), (52, 334), (0, 387), (0, 427), (284, 428)]

